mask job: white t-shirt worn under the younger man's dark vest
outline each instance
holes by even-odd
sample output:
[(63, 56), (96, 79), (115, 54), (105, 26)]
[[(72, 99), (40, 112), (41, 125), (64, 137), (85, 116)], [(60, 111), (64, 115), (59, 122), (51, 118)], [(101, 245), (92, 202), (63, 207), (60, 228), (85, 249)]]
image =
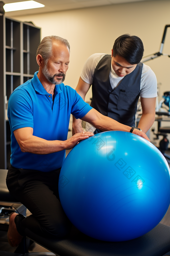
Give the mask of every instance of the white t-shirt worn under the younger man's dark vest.
[[(89, 84), (93, 83), (93, 75), (95, 68), (99, 61), (106, 55), (105, 53), (92, 54), (85, 62), (81, 79)], [(110, 69), (110, 84), (112, 89), (116, 88), (124, 77), (119, 77), (114, 72), (112, 65)], [(140, 97), (142, 98), (154, 98), (157, 97), (157, 80), (155, 73), (152, 69), (143, 63), (141, 81), (140, 81)], [(89, 123), (86, 123), (86, 131), (94, 132), (95, 127)]]

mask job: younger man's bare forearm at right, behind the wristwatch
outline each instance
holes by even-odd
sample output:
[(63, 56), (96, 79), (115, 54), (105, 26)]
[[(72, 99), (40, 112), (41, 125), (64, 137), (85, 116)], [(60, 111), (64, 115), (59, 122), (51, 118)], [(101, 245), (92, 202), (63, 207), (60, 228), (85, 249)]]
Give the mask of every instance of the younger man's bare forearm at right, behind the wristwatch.
[(155, 113), (148, 113), (148, 114), (142, 114), (138, 127), (142, 130), (142, 132), (146, 133), (152, 124), (154, 123), (155, 120)]

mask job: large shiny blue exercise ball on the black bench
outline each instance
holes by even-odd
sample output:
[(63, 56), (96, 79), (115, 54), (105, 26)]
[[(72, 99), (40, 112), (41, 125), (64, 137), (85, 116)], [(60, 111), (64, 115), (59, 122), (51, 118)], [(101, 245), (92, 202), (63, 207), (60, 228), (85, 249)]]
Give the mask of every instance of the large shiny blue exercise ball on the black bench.
[(129, 132), (89, 137), (68, 154), (59, 177), (61, 205), (81, 232), (103, 241), (146, 234), (170, 203), (170, 169), (161, 152)]

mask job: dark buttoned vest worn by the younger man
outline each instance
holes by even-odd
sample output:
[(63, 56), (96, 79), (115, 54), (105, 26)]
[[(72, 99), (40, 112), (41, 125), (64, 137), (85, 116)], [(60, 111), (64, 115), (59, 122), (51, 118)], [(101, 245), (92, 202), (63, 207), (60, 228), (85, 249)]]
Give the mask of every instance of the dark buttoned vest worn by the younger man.
[(135, 126), (143, 63), (126, 75), (114, 90), (110, 84), (111, 55), (98, 63), (93, 77), (91, 106), (105, 116)]

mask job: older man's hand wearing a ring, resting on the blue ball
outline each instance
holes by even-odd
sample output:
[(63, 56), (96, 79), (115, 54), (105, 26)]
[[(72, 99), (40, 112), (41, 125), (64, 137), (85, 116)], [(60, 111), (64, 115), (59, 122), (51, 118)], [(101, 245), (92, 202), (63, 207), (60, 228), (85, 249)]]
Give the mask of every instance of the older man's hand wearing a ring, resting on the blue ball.
[(79, 143), (79, 141), (85, 140), (93, 135), (94, 135), (94, 133), (92, 133), (92, 132), (76, 133), (71, 138), (69, 138), (67, 141), (65, 141), (65, 143), (66, 143), (65, 149), (71, 149), (75, 145), (77, 145)]

